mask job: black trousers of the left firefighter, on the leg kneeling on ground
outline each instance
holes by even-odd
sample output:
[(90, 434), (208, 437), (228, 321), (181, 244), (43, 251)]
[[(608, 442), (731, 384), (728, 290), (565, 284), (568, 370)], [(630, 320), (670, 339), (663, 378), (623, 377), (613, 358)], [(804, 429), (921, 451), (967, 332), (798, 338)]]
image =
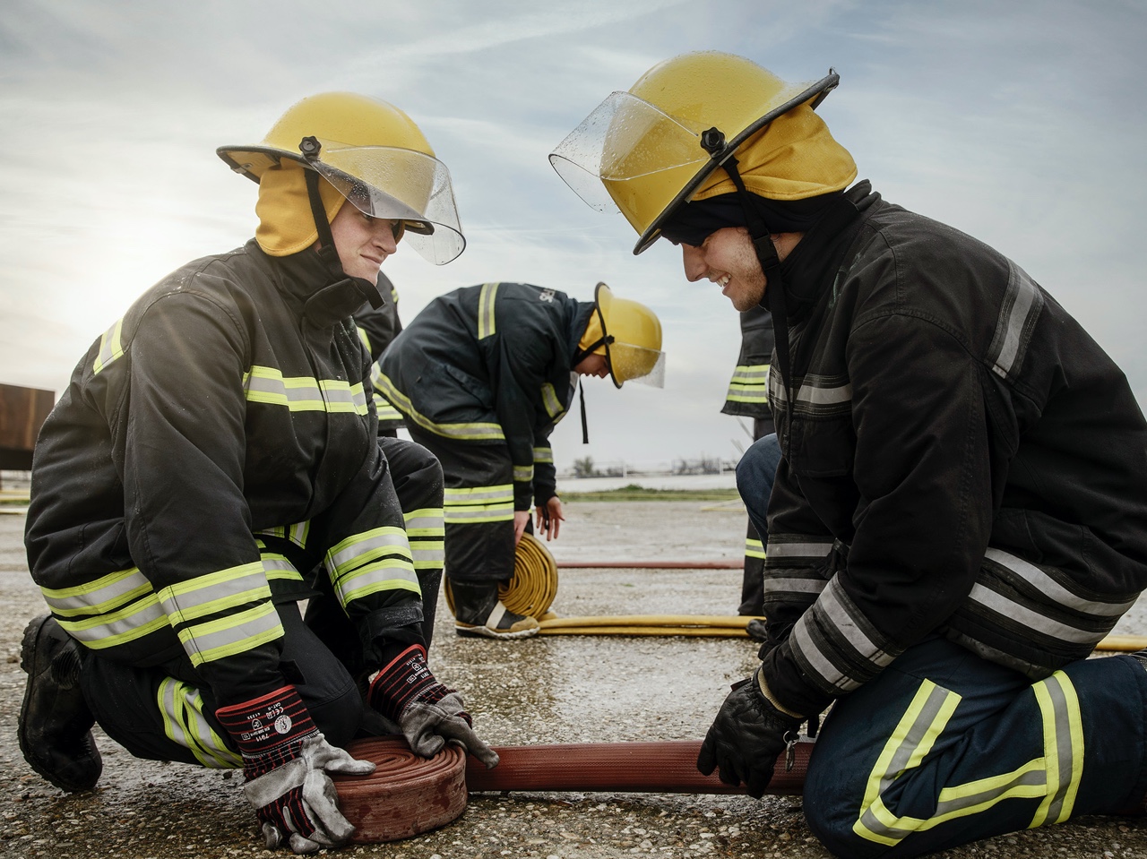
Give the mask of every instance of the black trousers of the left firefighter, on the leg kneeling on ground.
[[(303, 623), (294, 602), (275, 607), (283, 626), (280, 667), (315, 726), (345, 745), (362, 719), (362, 697), (342, 661)], [(361, 646), (359, 646), (361, 647)], [(80, 687), (95, 720), (138, 758), (239, 767), (242, 759), (214, 711), (219, 706), (190, 659), (136, 667), (87, 651)]]

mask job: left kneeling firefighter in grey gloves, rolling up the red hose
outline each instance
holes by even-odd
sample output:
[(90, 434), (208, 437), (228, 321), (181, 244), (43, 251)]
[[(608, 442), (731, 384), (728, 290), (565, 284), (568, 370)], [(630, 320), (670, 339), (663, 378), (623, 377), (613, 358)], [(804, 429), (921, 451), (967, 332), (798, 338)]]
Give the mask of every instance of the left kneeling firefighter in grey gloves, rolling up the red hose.
[(374, 768), (340, 748), (370, 713), (497, 763), (426, 662), (395, 484), (440, 528), (440, 471), (406, 443), (391, 473), (351, 318), (404, 232), (439, 264), (465, 241), (384, 102), (315, 95), (219, 155), (259, 183), (256, 237), (145, 292), (44, 424), (26, 545), (52, 614), (24, 634), (19, 744), (68, 791), (100, 778), (94, 721), (136, 757), (242, 767), (267, 846), (311, 852), (353, 831), (328, 773)]

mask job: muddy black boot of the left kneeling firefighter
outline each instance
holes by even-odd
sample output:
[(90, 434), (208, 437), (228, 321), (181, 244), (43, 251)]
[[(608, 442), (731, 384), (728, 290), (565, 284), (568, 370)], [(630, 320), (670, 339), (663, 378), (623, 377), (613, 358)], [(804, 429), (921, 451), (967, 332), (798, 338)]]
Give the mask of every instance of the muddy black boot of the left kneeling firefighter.
[(61, 790), (91, 790), (103, 772), (92, 740), (95, 717), (79, 688), (80, 645), (52, 615), (24, 630), (19, 666), (28, 672), (19, 708), (19, 750), (40, 775)]

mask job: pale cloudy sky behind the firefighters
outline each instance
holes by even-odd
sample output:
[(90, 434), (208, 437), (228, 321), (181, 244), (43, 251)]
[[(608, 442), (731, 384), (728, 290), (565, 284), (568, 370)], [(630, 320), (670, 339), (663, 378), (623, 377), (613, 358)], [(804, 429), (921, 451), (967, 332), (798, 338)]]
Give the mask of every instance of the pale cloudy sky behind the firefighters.
[(677, 249), (632, 256), (619, 214), (547, 155), (606, 95), (686, 50), (791, 80), (884, 198), (1019, 263), (1147, 403), (1147, 6), (1140, 0), (7, 0), (0, 17), (0, 382), (57, 393), (92, 339), (182, 263), (241, 244), (255, 186), (216, 147), (259, 141), (298, 99), (350, 89), (421, 126), (452, 173), (466, 252), (388, 260), (406, 320), (461, 286), (590, 298), (599, 280), (665, 327), (663, 390), (586, 385), (591, 444), (559, 467), (735, 458), (719, 414), (736, 313)]

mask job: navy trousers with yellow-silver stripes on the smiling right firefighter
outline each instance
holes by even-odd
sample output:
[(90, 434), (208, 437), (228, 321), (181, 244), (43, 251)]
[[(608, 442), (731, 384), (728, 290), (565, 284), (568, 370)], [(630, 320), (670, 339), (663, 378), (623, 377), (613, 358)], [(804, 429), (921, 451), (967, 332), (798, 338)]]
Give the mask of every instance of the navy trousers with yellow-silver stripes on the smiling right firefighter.
[(837, 701), (804, 784), (836, 856), (913, 857), (1117, 813), (1147, 790), (1147, 671), (1075, 662), (1032, 684), (930, 638)]

